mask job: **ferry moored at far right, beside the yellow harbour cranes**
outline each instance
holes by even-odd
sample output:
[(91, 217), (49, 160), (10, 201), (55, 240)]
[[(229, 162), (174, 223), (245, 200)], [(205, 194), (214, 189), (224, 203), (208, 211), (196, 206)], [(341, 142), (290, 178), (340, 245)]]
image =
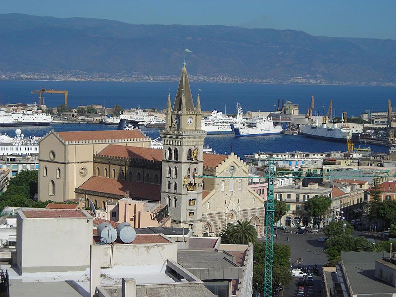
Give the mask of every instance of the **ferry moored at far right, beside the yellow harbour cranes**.
[(349, 138), (352, 137), (353, 133), (363, 133), (362, 129), (352, 129), (344, 125), (342, 121), (342, 126), (338, 127), (337, 123), (324, 123), (318, 125), (313, 123), (311, 125), (302, 125), (301, 134), (311, 138), (320, 138), (334, 141), (347, 141), (347, 135)]

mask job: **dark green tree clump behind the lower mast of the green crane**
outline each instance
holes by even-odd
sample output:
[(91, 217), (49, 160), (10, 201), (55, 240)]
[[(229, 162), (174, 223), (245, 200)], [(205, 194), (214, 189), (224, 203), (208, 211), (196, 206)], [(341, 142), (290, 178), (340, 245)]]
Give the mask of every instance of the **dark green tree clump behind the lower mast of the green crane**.
[[(258, 284), (258, 292), (263, 296), (264, 290), (264, 259), (265, 259), (265, 242), (256, 241), (254, 243), (254, 254), (253, 254), (253, 284)], [(274, 254), (273, 254), (273, 269), (272, 279), (273, 286), (277, 283), (281, 283), (284, 286), (288, 286), (292, 280), (292, 274), (290, 272), (291, 249), (289, 246), (280, 245), (274, 243)]]

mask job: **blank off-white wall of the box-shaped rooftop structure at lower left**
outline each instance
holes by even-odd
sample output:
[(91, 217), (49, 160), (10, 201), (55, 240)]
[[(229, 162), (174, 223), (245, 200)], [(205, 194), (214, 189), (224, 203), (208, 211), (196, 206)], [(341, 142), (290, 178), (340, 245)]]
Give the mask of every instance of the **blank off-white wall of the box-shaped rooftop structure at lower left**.
[(85, 270), (90, 263), (92, 222), (90, 216), (26, 218), (18, 210), (18, 268), (23, 273)]

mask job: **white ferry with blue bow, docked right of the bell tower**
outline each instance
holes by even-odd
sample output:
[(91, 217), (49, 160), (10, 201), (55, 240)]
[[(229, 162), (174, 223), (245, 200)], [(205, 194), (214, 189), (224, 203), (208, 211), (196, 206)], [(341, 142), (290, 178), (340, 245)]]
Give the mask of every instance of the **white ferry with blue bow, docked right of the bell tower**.
[(252, 118), (244, 127), (231, 127), (236, 137), (275, 135), (281, 134), (284, 129), (280, 122), (279, 125), (274, 125), (272, 119), (264, 117)]

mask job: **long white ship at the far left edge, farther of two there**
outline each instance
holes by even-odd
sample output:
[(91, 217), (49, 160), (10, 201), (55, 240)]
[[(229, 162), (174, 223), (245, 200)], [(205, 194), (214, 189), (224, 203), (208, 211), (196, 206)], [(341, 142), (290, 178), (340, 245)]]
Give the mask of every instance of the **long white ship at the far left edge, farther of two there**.
[(21, 110), (19, 112), (7, 112), (6, 108), (0, 108), (0, 126), (44, 126), (52, 123), (53, 117), (36, 108), (33, 110)]

